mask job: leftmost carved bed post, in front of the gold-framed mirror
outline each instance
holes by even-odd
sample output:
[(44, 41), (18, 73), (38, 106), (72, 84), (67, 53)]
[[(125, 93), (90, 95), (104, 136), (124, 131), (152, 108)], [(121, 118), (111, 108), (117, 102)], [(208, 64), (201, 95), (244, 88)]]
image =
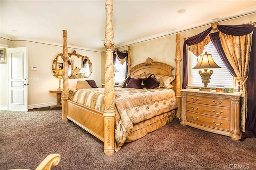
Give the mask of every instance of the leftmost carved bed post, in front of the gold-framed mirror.
[(63, 31), (63, 90), (62, 90), (62, 121), (67, 119), (67, 100), (68, 100), (68, 47), (67, 47), (67, 31)]

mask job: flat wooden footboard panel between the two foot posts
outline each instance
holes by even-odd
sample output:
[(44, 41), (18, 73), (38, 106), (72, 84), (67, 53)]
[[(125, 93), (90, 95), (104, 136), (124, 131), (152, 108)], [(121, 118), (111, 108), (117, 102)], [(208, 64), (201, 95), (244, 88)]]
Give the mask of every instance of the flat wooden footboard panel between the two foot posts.
[(103, 113), (82, 106), (70, 100), (68, 102), (67, 118), (88, 131), (101, 141), (104, 141), (104, 116)]

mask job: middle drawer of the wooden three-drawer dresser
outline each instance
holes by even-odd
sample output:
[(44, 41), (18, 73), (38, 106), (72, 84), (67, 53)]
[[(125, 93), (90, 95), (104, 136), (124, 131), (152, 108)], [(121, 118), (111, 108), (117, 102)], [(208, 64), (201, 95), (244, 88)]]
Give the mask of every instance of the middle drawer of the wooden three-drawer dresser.
[(206, 115), (230, 118), (230, 109), (227, 107), (214, 107), (187, 102), (186, 110)]

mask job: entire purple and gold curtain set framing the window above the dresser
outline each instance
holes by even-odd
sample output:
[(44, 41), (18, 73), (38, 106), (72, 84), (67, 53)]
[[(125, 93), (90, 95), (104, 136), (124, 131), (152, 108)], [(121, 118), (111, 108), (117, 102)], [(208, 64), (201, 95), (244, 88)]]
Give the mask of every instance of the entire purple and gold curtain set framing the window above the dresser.
[[(223, 63), (236, 78), (241, 88), (242, 138), (240, 141), (247, 137), (256, 137), (256, 73), (254, 73), (253, 67), (256, 64), (255, 23), (254, 25), (251, 22), (242, 25), (217, 24), (218, 29), (216, 30), (213, 30), (212, 27), (184, 41), (182, 88), (184, 89), (188, 85), (186, 45), (189, 45), (189, 50), (198, 56), (199, 53), (202, 53), (204, 46), (210, 42), (210, 37)], [(214, 33), (210, 33), (211, 31)]]

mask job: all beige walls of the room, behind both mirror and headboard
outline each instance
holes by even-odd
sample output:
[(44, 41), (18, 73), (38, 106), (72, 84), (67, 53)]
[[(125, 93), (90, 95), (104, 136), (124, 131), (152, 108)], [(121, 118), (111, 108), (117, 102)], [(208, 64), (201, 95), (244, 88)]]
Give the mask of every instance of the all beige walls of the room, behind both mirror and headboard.
[[(247, 23), (248, 21), (255, 22), (256, 14), (236, 18), (233, 20), (219, 22), (222, 25), (235, 25)], [(185, 37), (191, 37), (202, 31), (208, 29), (210, 25), (199, 27), (196, 29), (190, 29), (188, 31), (180, 32), (180, 49), (181, 55), (183, 51), (183, 43)], [(28, 69), (29, 78), (39, 78), (39, 82), (29, 82), (28, 90), (28, 105), (30, 108), (37, 106), (49, 105), (56, 102), (55, 94), (50, 94), (48, 90), (58, 88), (58, 79), (53, 76), (52, 73), (52, 61), (58, 53), (62, 53), (62, 47), (54, 45), (46, 45), (41, 43), (32, 43), (26, 41), (8, 41), (6, 39), (0, 39), (1, 45), (9, 45), (13, 47), (28, 47), (28, 68), (30, 66), (37, 66), (38, 71), (30, 71)], [(136, 43), (131, 46), (132, 67), (136, 64), (145, 62), (145, 59), (151, 57), (154, 61), (160, 61), (175, 66), (175, 50), (176, 50), (176, 34), (167, 35), (164, 37)], [(127, 47), (119, 48), (120, 51), (127, 50)], [(73, 49), (68, 48), (68, 52), (72, 52)], [(98, 87), (104, 83), (105, 74), (105, 60), (106, 53), (98, 53), (86, 50), (77, 50), (76, 53), (86, 55), (92, 62), (92, 76), (87, 80), (95, 80)], [(182, 57), (182, 56), (181, 56)], [(99, 68), (99, 66), (101, 68)], [(1, 73), (7, 74), (7, 64), (0, 64)], [(181, 63), (182, 71), (182, 63)], [(175, 70), (173, 71), (175, 74)], [(8, 77), (6, 74), (1, 74), (0, 80), (0, 106), (7, 105), (7, 84)], [(181, 72), (182, 75), (182, 72)], [(74, 88), (76, 81), (81, 79), (69, 79), (70, 88)], [(84, 79), (86, 80), (86, 79)]]

